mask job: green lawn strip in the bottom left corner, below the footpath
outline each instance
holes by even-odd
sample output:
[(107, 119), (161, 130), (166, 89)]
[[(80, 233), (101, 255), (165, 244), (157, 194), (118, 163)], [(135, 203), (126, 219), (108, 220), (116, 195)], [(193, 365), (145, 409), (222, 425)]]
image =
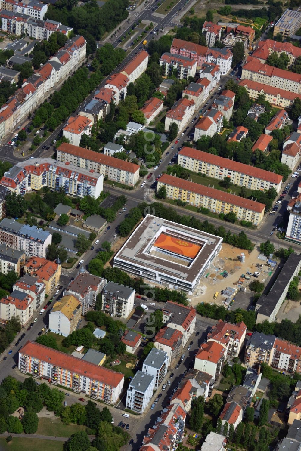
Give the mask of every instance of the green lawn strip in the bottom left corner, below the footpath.
[(40, 438), (13, 437), (9, 443), (5, 438), (0, 438), (0, 449), (2, 451), (63, 451), (64, 442), (55, 440), (42, 440)]

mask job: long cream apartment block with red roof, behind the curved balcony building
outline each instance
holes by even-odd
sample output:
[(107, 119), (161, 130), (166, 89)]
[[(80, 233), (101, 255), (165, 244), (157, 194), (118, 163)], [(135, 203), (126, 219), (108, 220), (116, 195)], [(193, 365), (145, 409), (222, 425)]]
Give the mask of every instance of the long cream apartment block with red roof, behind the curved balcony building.
[(122, 184), (135, 186), (139, 180), (139, 165), (71, 144), (60, 144), (56, 149), (56, 158), (58, 161), (72, 164), (77, 168), (93, 170), (109, 180)]

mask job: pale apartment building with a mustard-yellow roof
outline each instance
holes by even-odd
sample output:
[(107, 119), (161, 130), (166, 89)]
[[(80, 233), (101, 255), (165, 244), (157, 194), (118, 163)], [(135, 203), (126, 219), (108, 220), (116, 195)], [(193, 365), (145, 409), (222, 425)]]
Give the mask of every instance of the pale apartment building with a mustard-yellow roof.
[(81, 305), (74, 296), (63, 296), (51, 308), (48, 329), (67, 337), (72, 334), (81, 320)]

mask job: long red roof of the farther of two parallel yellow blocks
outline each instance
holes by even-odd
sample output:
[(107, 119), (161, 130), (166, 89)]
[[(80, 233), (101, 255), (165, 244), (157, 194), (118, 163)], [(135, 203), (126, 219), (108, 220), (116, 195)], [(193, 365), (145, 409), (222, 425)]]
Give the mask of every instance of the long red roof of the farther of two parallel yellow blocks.
[(255, 168), (254, 166), (245, 165), (238, 161), (228, 160), (222, 156), (213, 155), (212, 153), (202, 152), (201, 150), (193, 149), (192, 147), (183, 147), (179, 152), (179, 155), (189, 156), (205, 163), (210, 163), (214, 166), (227, 168), (232, 171), (239, 172), (241, 174), (247, 174), (257, 179), (267, 180), (271, 183), (279, 184), (282, 181), (282, 175), (274, 174), (264, 169)]

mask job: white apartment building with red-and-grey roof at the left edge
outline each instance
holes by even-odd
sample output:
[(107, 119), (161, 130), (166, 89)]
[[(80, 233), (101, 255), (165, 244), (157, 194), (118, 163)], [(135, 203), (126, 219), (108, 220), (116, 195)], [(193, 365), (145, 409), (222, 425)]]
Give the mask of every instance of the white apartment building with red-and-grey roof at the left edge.
[(0, 299), (0, 318), (9, 321), (11, 318), (18, 318), (21, 326), (32, 318), (33, 306), (32, 296), (19, 290), (13, 290), (6, 298)]

